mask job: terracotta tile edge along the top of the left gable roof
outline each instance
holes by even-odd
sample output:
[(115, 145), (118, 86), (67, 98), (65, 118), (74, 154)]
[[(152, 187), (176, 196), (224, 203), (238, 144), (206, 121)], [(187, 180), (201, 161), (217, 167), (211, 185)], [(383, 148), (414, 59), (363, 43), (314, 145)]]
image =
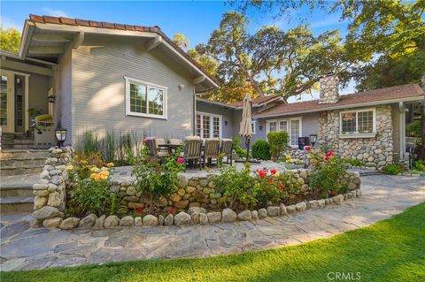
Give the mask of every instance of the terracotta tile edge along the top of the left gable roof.
[(69, 19), (69, 18), (58, 18), (58, 17), (50, 17), (50, 16), (37, 16), (30, 14), (29, 19), (34, 22), (39, 23), (53, 23), (53, 24), (73, 24), (71, 22), (74, 21), (74, 24), (83, 27), (103, 27), (103, 28), (114, 28), (120, 30), (135, 30), (140, 32), (151, 32), (161, 35), (168, 44), (172, 45), (175, 50), (177, 50), (183, 57), (189, 60), (190, 63), (196, 65), (198, 69), (204, 72), (208, 78), (213, 80), (216, 84), (220, 85), (220, 82), (214, 78), (210, 73), (206, 72), (205, 69), (197, 64), (192, 57), (190, 57), (184, 50), (182, 50), (177, 44), (174, 43), (166, 34), (164, 34), (158, 26), (155, 27), (141, 27), (141, 26), (131, 26), (131, 25), (123, 25), (123, 24), (112, 24), (107, 22), (100, 22), (95, 20), (86, 20), (86, 19)]

